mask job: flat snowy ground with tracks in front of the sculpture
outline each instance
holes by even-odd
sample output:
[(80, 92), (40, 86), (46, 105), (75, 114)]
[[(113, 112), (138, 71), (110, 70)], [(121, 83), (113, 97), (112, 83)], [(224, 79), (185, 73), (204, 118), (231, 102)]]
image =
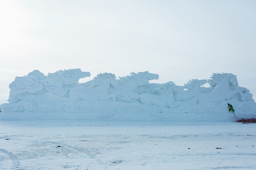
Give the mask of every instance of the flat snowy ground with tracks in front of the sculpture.
[(255, 170), (255, 160), (256, 124), (0, 121), (0, 170)]

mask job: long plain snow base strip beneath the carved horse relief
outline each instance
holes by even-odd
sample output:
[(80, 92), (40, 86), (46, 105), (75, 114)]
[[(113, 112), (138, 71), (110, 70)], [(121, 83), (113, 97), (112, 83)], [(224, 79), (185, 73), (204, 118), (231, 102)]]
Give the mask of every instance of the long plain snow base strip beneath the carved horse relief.
[[(238, 119), (256, 117), (256, 114), (237, 114)], [(37, 112), (37, 113), (0, 113), (0, 120), (105, 120), (105, 121), (195, 121), (208, 122), (235, 121), (234, 115), (210, 113), (67, 113), (67, 112)]]

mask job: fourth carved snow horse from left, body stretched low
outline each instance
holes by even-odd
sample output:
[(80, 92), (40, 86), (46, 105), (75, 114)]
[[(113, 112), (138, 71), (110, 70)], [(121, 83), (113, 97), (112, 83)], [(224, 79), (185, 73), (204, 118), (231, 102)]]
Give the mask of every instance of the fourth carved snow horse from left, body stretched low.
[(134, 102), (135, 100), (139, 100), (142, 104), (152, 104), (158, 107), (172, 108), (174, 106), (174, 86), (174, 82), (170, 81), (163, 84), (161, 88), (155, 88), (155, 90), (160, 93), (160, 95), (151, 93), (143, 93), (140, 95), (128, 94), (123, 95), (122, 100), (127, 102)]

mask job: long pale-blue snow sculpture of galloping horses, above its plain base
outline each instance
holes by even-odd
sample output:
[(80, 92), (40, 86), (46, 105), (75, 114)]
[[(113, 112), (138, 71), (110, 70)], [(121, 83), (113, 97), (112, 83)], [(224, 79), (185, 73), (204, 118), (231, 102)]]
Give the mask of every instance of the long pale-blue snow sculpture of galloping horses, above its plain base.
[[(9, 85), (9, 103), (2, 112), (109, 112), (109, 113), (226, 113), (232, 103), (236, 112), (255, 113), (256, 103), (230, 73), (213, 73), (209, 80), (192, 79), (183, 86), (174, 82), (150, 83), (157, 74), (148, 71), (116, 78), (100, 73), (91, 76), (79, 68), (59, 70), (45, 76), (38, 70), (16, 77)], [(204, 87), (208, 83), (210, 87)]]

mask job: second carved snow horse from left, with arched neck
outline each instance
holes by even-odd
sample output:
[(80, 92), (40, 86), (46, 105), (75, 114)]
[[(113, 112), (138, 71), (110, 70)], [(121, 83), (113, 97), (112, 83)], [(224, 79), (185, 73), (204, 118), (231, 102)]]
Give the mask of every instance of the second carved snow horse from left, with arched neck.
[(116, 101), (114, 94), (109, 94), (110, 85), (115, 89), (118, 88), (118, 83), (116, 77), (111, 73), (100, 73), (93, 78), (91, 87), (73, 87), (69, 96), (73, 101), (85, 100), (85, 101), (101, 101), (112, 99)]

